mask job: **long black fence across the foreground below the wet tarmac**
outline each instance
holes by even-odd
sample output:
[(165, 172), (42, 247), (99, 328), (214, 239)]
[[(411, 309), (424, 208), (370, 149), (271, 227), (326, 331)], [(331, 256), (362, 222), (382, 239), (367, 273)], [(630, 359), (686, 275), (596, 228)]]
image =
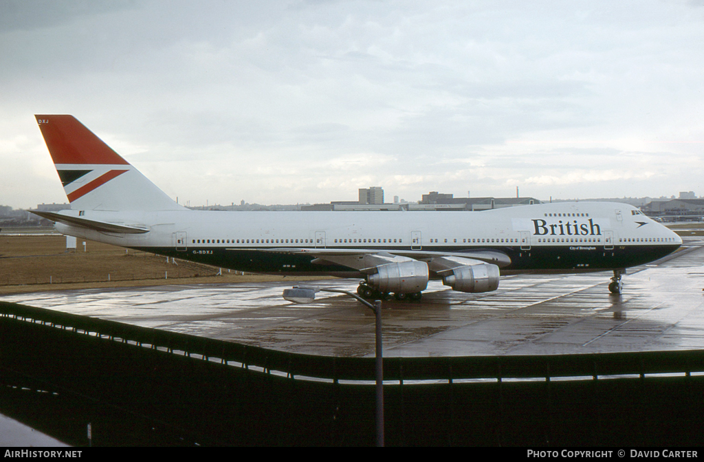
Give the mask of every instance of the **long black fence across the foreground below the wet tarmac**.
[[(375, 442), (373, 358), (2, 302), (0, 333), (0, 411), (73, 444), (88, 422), (96, 445)], [(700, 444), (702, 372), (703, 351), (385, 358), (386, 442)]]

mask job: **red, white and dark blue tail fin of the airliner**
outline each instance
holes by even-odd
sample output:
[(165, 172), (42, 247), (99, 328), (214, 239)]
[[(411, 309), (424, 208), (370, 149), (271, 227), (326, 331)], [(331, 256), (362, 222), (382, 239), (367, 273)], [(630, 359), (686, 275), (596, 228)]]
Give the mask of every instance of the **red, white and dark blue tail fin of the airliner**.
[(182, 208), (75, 117), (35, 117), (71, 208), (111, 211)]

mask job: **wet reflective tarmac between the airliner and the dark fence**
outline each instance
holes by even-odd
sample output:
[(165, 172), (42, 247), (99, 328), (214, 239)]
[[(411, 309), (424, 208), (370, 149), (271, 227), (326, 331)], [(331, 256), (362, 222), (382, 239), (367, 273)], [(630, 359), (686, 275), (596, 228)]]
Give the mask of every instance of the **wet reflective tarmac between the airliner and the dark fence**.
[[(674, 258), (611, 273), (502, 277), (496, 292), (430, 282), (420, 302), (384, 301), (384, 356), (584, 354), (704, 347), (704, 241)], [(306, 285), (355, 291), (356, 280)], [(348, 296), (282, 299), (279, 282), (86, 289), (2, 296), (30, 306), (144, 327), (329, 356), (373, 356), (374, 316)]]

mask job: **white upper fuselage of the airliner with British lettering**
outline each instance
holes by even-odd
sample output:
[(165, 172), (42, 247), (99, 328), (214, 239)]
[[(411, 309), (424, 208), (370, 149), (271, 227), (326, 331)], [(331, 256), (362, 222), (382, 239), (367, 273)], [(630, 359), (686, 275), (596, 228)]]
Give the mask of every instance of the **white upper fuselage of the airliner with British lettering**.
[[(80, 211), (65, 213), (78, 215)], [(598, 270), (631, 266), (633, 251), (638, 249), (675, 249), (681, 244), (679, 236), (636, 208), (597, 202), (536, 204), (479, 212), (225, 212), (184, 209), (163, 212), (84, 211), (82, 216), (145, 227), (149, 232), (99, 232), (61, 223), (57, 223), (57, 229), (68, 235), (153, 249), (156, 253), (171, 249), (181, 258), (206, 262), (205, 257), (216, 252), (279, 248), (449, 252), (499, 249), (510, 254), (514, 261), (516, 253), (522, 257), (529, 251), (540, 254), (548, 249), (558, 253), (555, 258), (560, 255), (564, 258), (565, 251), (571, 256), (605, 254), (614, 248), (621, 249), (622, 255), (625, 255), (623, 251), (628, 251), (629, 259), (622, 264), (611, 261), (594, 267), (593, 258), (587, 258), (584, 263), (573, 258), (576, 263), (565, 266), (549, 258), (533, 258), (534, 265), (538, 266), (530, 268), (524, 262), (506, 268), (519, 271)], [(659, 257), (660, 253), (653, 255)], [(635, 258), (632, 261), (641, 264), (642, 260)], [(215, 264), (227, 266), (222, 261)], [(281, 268), (272, 270), (280, 272)]]

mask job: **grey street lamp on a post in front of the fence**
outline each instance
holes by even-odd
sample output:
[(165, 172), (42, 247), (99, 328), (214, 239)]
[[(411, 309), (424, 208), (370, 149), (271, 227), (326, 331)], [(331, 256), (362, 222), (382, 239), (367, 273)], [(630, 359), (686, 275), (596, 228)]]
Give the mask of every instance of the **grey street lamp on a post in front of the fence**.
[(361, 304), (370, 308), (376, 318), (376, 349), (375, 349), (375, 367), (376, 367), (376, 400), (377, 400), (377, 446), (384, 446), (384, 354), (382, 353), (382, 301), (375, 300), (374, 304), (370, 304), (362, 297), (342, 289), (321, 289), (320, 287), (305, 287), (294, 286), (293, 289), (284, 289), (284, 299), (294, 301), (295, 303), (307, 304), (315, 300), (316, 292), (337, 292), (339, 294), (347, 294), (357, 299)]

